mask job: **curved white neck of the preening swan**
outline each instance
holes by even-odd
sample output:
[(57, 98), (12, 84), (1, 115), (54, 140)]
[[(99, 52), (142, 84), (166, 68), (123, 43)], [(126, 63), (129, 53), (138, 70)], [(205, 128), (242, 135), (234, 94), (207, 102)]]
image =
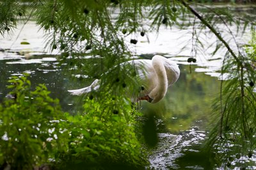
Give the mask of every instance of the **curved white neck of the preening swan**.
[(152, 65), (156, 72), (156, 87), (148, 94), (148, 97), (152, 98), (152, 103), (159, 102), (167, 92), (168, 79), (166, 70), (164, 68), (163, 59), (159, 57), (152, 58)]

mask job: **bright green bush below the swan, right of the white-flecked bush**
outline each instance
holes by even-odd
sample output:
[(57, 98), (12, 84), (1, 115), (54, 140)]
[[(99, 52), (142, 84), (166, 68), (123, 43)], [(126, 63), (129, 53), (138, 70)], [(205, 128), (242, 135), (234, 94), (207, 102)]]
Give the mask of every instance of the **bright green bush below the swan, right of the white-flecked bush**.
[(83, 115), (68, 117), (69, 152), (62, 166), (145, 169), (147, 157), (134, 132), (137, 114), (131, 114), (132, 108), (124, 98), (104, 95), (106, 101), (88, 98)]

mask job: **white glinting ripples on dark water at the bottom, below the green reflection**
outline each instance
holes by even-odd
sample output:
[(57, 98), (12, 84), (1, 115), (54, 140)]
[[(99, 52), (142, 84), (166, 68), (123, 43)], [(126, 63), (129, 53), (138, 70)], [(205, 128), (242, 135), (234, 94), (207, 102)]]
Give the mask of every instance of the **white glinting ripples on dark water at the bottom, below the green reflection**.
[(152, 169), (212, 169), (209, 154), (202, 150), (205, 132), (192, 127), (179, 135), (160, 133), (152, 150)]

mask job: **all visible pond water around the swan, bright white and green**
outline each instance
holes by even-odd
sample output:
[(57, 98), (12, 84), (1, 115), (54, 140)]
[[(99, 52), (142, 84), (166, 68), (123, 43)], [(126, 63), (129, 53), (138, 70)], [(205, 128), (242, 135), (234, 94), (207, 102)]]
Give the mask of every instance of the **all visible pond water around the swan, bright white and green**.
[[(27, 72), (30, 73), (31, 84), (36, 86), (44, 83), (52, 92), (52, 97), (60, 99), (63, 110), (72, 114), (77, 98), (69, 95), (67, 90), (81, 88), (83, 84), (68, 78), (67, 72), (56, 59), (58, 50), (48, 52), (44, 49), (43, 31), (38, 31), (35, 22), (29, 21), (23, 28), (22, 26), (20, 24), (12, 36), (4, 35), (4, 38), (0, 38), (0, 102), (8, 93), (8, 79), (12, 75)], [(207, 55), (212, 52), (209, 48), (209, 52), (204, 55), (195, 56), (196, 63), (188, 65), (188, 56), (194, 55), (189, 42), (191, 34), (188, 34), (191, 29), (188, 27), (180, 30), (173, 27), (170, 31), (161, 27), (158, 35), (147, 33), (145, 37), (138, 36), (138, 45), (131, 46), (134, 54), (162, 54), (177, 61), (180, 66), (179, 80), (168, 89), (161, 102), (141, 102), (140, 105), (142, 112), (156, 113), (159, 143), (150, 151), (152, 169), (214, 169), (215, 166), (209, 153), (202, 151), (202, 143), (207, 135), (207, 128), (211, 127), (212, 100), (218, 97), (220, 91), (218, 70), (223, 56), (221, 51), (213, 57)], [(249, 34), (244, 36), (248, 37)], [(216, 41), (214, 37), (207, 38), (209, 41), (205, 43)], [(246, 43), (248, 38), (240, 40), (239, 43)], [(30, 44), (20, 45), (22, 41)], [(182, 49), (187, 44), (190, 45)], [(176, 54), (179, 57), (173, 58)]]

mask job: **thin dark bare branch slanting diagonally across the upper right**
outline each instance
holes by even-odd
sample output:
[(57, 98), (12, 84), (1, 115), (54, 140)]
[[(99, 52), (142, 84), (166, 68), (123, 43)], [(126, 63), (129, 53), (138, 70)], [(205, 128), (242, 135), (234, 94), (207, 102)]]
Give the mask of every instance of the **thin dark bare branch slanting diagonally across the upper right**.
[(209, 24), (209, 22), (207, 22), (207, 20), (204, 19), (204, 17), (202, 17), (198, 12), (196, 12), (193, 8), (191, 8), (191, 6), (189, 6), (189, 4), (186, 3), (186, 1), (182, 0), (181, 3), (190, 12), (192, 12), (199, 20), (201, 20), (202, 24), (207, 26), (212, 31), (212, 33), (214, 33), (214, 35), (216, 35), (216, 37), (225, 45), (225, 47), (227, 48), (228, 52), (230, 52), (230, 54), (234, 57), (234, 59), (236, 59), (237, 63), (239, 65), (243, 65), (243, 63), (240, 61), (240, 59), (237, 57), (237, 55), (234, 53), (234, 51), (230, 48), (228, 43), (221, 37), (220, 33), (218, 33), (218, 31), (216, 31), (216, 29), (214, 29), (214, 27), (212, 27), (211, 24)]

